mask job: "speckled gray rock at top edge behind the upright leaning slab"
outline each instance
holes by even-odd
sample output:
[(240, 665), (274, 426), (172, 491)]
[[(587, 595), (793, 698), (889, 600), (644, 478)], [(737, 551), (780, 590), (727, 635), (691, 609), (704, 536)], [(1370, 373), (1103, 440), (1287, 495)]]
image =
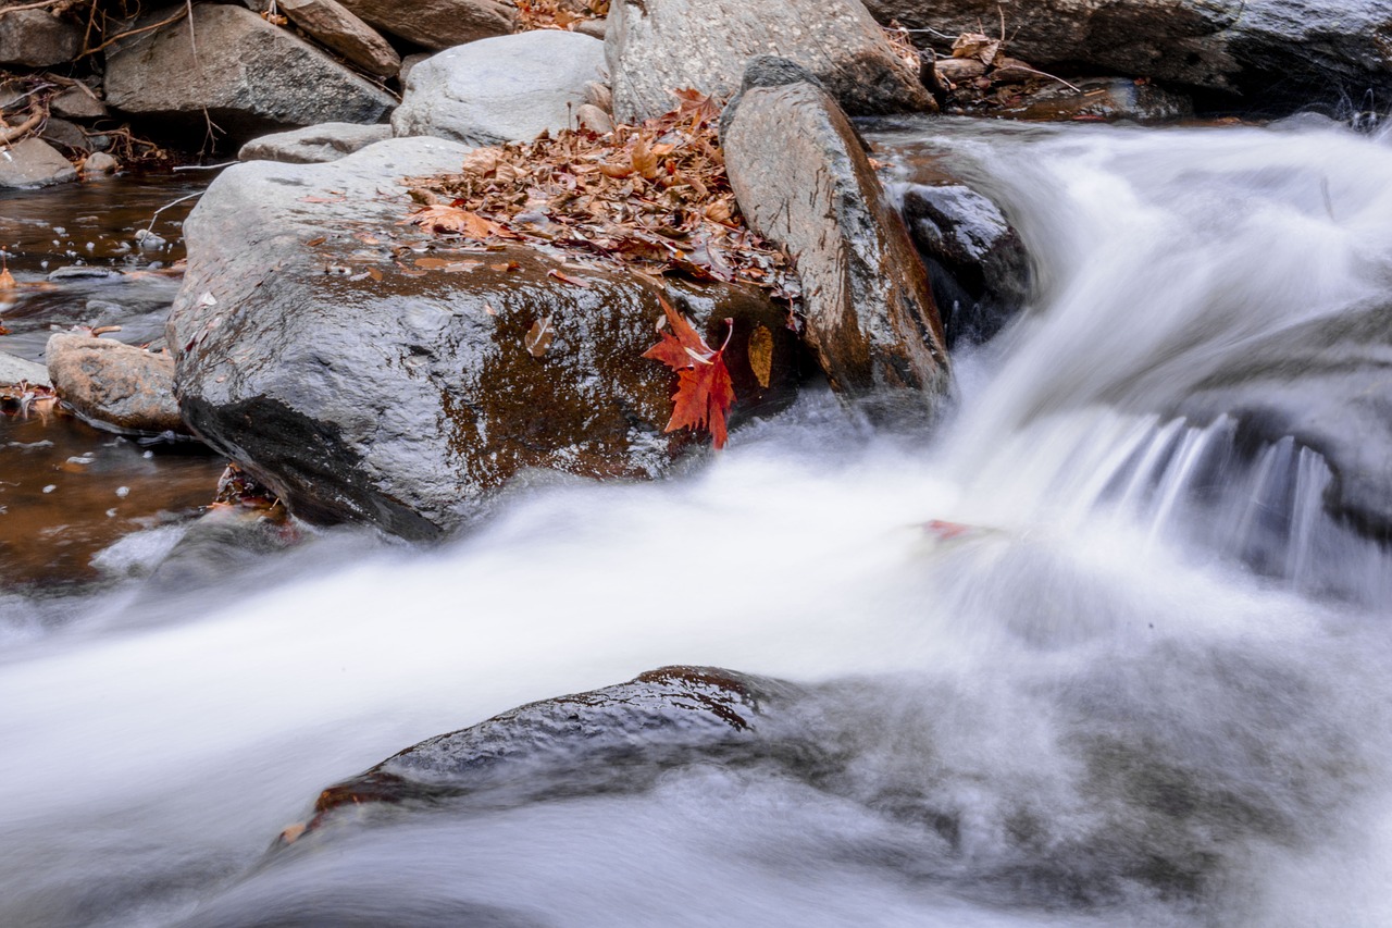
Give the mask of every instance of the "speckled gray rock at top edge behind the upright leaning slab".
[(674, 88), (728, 98), (759, 54), (802, 64), (852, 116), (935, 109), (857, 0), (615, 0), (604, 43), (621, 123), (672, 109)]

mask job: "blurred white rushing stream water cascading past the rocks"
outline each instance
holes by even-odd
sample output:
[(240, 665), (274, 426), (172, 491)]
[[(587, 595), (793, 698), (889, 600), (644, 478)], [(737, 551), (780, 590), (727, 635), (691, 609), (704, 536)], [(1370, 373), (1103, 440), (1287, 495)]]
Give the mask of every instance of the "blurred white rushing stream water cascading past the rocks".
[[(519, 490), (440, 550), (330, 534), (72, 603), (0, 654), (0, 922), (1392, 921), (1388, 557), (1324, 516), (1318, 456), (1161, 414), (1243, 339), (1386, 287), (1392, 146), (880, 141), (951, 152), (1038, 262), (931, 443), (807, 396), (695, 474)], [(260, 867), (329, 783), (663, 663), (832, 686), (845, 780), (693, 765)]]

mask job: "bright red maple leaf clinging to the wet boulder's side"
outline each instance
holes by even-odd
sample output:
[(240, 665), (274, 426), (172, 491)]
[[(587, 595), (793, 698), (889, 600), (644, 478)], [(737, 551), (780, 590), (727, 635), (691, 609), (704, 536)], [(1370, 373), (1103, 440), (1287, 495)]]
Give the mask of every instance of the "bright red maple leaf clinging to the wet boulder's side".
[(665, 432), (677, 429), (707, 429), (715, 447), (725, 447), (725, 412), (735, 403), (735, 385), (725, 366), (725, 346), (734, 333), (734, 319), (725, 319), (729, 332), (720, 350), (711, 350), (692, 323), (672, 309), (661, 295), (657, 297), (667, 314), (671, 332), (663, 333), (663, 340), (643, 353), (644, 358), (661, 361), (677, 371), (677, 393), (672, 394), (672, 418)]

